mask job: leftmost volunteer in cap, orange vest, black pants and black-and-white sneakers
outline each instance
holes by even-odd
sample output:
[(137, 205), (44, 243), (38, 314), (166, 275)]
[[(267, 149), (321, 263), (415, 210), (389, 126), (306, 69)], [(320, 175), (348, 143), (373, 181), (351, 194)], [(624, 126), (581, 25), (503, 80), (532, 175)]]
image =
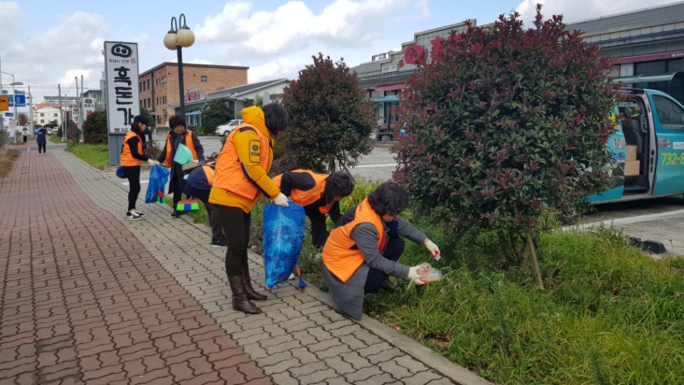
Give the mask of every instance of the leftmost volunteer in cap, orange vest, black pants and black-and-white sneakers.
[(130, 131), (123, 138), (123, 145), (121, 145), (120, 166), (123, 174), (128, 178), (129, 187), (127, 220), (141, 220), (145, 217), (145, 213), (135, 210), (135, 202), (138, 200), (138, 194), (140, 194), (140, 165), (145, 162), (150, 163), (150, 165), (159, 164), (144, 153), (145, 136), (142, 133), (145, 130), (147, 130), (147, 118), (142, 115), (136, 116), (133, 118), (133, 123), (130, 124)]

